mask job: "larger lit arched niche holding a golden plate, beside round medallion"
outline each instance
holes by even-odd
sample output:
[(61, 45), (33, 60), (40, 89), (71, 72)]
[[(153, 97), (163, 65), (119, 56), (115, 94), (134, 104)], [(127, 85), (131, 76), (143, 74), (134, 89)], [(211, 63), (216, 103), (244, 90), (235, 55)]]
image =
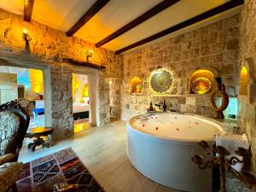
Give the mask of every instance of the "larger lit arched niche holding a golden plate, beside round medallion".
[(189, 77), (190, 94), (207, 94), (212, 92), (214, 75), (207, 69), (198, 69)]

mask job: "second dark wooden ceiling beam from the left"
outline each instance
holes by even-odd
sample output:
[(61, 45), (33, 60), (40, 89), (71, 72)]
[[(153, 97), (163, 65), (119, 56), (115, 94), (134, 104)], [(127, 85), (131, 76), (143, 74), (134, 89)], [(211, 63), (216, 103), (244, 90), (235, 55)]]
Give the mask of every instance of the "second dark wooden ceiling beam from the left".
[(110, 0), (96, 0), (90, 9), (66, 32), (67, 37), (73, 36), (79, 29), (84, 26), (96, 13), (98, 13)]

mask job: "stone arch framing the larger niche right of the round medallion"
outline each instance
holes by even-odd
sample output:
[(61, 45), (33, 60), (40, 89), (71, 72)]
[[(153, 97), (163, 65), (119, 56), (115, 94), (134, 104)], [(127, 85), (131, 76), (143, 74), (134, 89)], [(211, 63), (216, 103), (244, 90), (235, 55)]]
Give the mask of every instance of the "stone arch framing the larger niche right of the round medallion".
[[(191, 70), (189, 70), (189, 73), (187, 73), (186, 76), (186, 80), (187, 80), (187, 93), (190, 94), (191, 93), (191, 78), (193, 76), (193, 73), (197, 72), (197, 71), (206, 71), (207, 73), (212, 73), (212, 90), (215, 89), (216, 87), (216, 81), (215, 78), (219, 76), (218, 70), (216, 70), (213, 67), (195, 67)], [(210, 90), (209, 92), (212, 92), (212, 90)]]

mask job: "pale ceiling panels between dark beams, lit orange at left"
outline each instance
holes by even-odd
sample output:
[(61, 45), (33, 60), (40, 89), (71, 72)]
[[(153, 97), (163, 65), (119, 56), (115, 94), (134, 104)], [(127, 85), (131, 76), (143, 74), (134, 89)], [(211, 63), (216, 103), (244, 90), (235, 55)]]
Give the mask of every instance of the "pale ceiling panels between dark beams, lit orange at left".
[[(136, 43), (143, 38), (148, 38), (154, 35), (154, 33), (177, 25), (184, 20), (188, 20), (195, 15), (200, 15), (228, 1), (229, 0), (181, 0), (168, 9), (163, 10), (158, 15), (154, 15), (154, 17), (108, 42), (108, 44), (102, 45), (102, 47), (113, 51), (124, 48), (127, 45)], [(96, 0), (35, 0), (32, 20), (37, 20), (44, 25), (67, 32), (95, 2)], [(80, 28), (74, 36), (96, 44), (102, 40), (102, 38), (108, 37), (108, 35), (117, 31), (120, 27), (125, 26), (125, 24), (136, 19), (139, 15), (142, 15), (160, 2), (161, 0), (111, 0)], [(18, 15), (23, 15), (23, 3), (24, 0), (0, 0), (0, 8), (9, 10)], [(240, 10), (241, 6), (201, 21), (196, 25), (186, 27), (179, 32), (167, 35), (149, 44), (234, 15)]]

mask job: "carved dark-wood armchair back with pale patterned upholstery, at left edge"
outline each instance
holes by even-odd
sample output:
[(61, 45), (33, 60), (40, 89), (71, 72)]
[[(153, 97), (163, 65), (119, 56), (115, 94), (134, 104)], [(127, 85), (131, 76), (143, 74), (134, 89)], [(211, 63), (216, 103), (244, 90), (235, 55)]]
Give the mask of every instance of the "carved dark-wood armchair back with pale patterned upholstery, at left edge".
[(0, 105), (0, 156), (15, 154), (17, 161), (29, 125), (29, 116), (17, 101)]

